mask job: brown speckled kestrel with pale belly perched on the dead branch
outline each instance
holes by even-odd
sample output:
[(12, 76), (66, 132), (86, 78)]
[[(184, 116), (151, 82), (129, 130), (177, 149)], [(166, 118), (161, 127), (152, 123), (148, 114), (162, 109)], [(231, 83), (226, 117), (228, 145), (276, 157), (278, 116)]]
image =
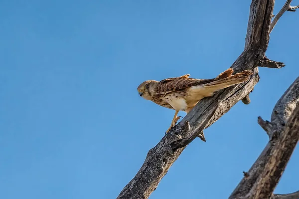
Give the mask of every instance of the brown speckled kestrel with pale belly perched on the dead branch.
[(188, 113), (201, 99), (212, 96), (220, 89), (242, 83), (252, 75), (249, 70), (232, 75), (233, 72), (234, 70), (229, 68), (214, 79), (189, 78), (190, 75), (186, 74), (161, 81), (147, 80), (141, 83), (137, 90), (144, 99), (175, 110), (171, 125), (166, 131), (168, 133), (179, 120), (179, 111)]

